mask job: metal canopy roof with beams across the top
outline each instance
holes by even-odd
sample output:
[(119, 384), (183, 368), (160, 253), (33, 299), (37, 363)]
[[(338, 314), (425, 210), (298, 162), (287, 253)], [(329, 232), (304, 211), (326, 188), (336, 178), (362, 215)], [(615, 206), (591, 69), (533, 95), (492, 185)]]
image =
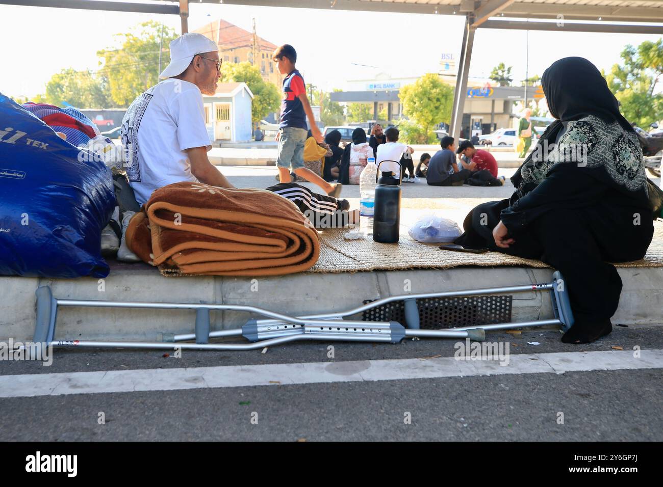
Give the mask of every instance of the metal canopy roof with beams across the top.
[[(182, 30), (186, 31), (189, 4), (200, 1), (226, 5), (458, 15), (469, 17), (471, 28), (663, 34), (663, 0), (143, 0), (142, 3), (117, 0), (0, 0), (0, 4), (179, 14)], [(500, 21), (497, 17), (548, 22)], [(591, 23), (578, 24), (577, 21)]]

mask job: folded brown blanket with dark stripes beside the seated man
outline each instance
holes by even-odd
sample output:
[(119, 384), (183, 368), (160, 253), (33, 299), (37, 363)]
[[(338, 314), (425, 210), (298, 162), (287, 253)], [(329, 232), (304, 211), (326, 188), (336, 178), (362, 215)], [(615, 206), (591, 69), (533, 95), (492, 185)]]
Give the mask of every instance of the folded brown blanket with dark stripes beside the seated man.
[(180, 182), (152, 193), (127, 245), (164, 276), (277, 276), (318, 261), (318, 233), (292, 201), (266, 189)]

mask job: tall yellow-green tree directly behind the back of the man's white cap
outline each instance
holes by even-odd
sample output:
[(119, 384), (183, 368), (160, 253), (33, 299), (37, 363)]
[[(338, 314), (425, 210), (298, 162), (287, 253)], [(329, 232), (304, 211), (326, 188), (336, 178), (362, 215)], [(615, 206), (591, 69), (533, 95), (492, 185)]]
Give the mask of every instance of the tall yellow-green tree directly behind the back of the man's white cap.
[[(162, 40), (163, 35), (163, 41)], [(119, 107), (129, 104), (143, 91), (159, 81), (159, 46), (161, 70), (170, 63), (168, 43), (177, 37), (174, 29), (162, 24), (144, 22), (131, 32), (117, 34), (118, 49), (100, 50), (99, 76), (107, 84), (111, 99)]]

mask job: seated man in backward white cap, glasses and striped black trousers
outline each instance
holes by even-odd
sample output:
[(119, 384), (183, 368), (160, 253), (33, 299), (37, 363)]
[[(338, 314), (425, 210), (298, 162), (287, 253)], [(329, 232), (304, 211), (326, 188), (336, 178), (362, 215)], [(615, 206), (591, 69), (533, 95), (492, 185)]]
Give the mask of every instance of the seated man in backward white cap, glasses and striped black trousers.
[[(235, 188), (208, 158), (210, 138), (202, 94), (213, 95), (221, 79), (218, 46), (202, 34), (188, 33), (170, 42), (171, 61), (160, 74), (166, 78), (139, 95), (122, 121), (123, 167), (137, 202), (152, 191), (176, 182), (201, 182)], [(294, 183), (270, 191), (293, 201), (302, 213), (333, 215), (349, 202), (313, 193)]]

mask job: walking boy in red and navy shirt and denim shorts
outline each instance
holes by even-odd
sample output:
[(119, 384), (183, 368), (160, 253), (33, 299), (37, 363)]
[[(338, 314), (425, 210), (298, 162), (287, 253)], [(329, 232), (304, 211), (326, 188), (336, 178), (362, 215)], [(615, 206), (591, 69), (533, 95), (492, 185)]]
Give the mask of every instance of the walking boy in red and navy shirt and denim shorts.
[(311, 125), (311, 133), (318, 142), (324, 138), (316, 125), (311, 105), (306, 97), (304, 78), (295, 68), (297, 53), (290, 44), (276, 48), (274, 62), (278, 63), (278, 72), (286, 75), (283, 80), (281, 118), (278, 129), (278, 177), (280, 182), (290, 182), (290, 171), (307, 181), (320, 186), (333, 197), (341, 193), (341, 184), (329, 184), (318, 174), (304, 166), (304, 144), (306, 142), (306, 117)]

